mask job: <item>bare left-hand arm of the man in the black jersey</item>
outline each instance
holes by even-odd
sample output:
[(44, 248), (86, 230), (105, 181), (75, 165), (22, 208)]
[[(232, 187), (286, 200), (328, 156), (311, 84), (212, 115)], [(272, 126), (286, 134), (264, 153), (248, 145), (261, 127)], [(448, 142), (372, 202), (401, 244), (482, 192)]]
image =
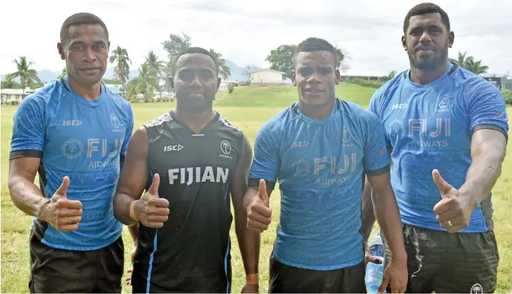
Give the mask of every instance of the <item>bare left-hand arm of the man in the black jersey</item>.
[[(130, 218), (130, 204), (133, 200), (138, 200), (148, 181), (148, 135), (146, 128), (141, 127), (133, 134), (126, 159), (119, 176), (116, 195), (114, 196), (114, 216), (121, 223), (135, 227), (130, 229), (130, 233), (136, 233), (138, 239), (138, 221)], [(134, 239), (135, 242), (135, 239)]]

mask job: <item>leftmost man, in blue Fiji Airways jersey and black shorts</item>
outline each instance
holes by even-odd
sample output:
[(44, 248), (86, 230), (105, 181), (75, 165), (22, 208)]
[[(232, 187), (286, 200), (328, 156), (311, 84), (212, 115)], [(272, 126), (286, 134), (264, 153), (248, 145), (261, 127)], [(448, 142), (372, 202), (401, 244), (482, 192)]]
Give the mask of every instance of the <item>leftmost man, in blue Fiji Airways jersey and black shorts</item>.
[(34, 216), (31, 293), (121, 292), (122, 224), (112, 198), (133, 113), (101, 84), (109, 46), (99, 17), (68, 17), (58, 43), (67, 76), (29, 95), (15, 114), (9, 189)]

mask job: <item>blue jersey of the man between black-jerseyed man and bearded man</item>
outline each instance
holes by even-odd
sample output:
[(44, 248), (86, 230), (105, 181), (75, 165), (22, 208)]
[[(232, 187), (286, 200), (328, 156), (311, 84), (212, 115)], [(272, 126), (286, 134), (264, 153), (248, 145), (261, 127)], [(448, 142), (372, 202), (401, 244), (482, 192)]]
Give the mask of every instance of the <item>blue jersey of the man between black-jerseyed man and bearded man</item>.
[[(364, 260), (364, 173), (389, 172), (384, 128), (375, 114), (336, 99), (320, 121), (297, 103), (264, 123), (254, 146), (250, 184), (280, 184), (275, 258), (289, 266), (332, 270)], [(269, 187), (268, 188), (272, 188)]]

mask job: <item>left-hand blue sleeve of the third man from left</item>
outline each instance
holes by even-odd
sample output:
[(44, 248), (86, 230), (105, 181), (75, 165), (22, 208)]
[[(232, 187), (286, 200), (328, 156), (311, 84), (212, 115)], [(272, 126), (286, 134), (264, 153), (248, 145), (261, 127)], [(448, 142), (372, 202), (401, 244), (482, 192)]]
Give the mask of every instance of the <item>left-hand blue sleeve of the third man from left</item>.
[(253, 165), (250, 167), (249, 186), (259, 186), (266, 181), (268, 189), (275, 187), (280, 166), (280, 132), (271, 123), (259, 129), (254, 143)]

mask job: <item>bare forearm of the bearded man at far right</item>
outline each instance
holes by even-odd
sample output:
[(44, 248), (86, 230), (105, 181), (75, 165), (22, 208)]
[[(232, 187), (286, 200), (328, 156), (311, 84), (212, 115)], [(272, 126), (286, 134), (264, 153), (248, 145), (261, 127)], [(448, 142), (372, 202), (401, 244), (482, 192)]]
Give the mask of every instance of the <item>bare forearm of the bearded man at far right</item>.
[(470, 198), (472, 211), (489, 196), (502, 173), (506, 152), (506, 137), (502, 132), (481, 129), (471, 138), (471, 165), (466, 173), (466, 182), (459, 189), (463, 197)]

